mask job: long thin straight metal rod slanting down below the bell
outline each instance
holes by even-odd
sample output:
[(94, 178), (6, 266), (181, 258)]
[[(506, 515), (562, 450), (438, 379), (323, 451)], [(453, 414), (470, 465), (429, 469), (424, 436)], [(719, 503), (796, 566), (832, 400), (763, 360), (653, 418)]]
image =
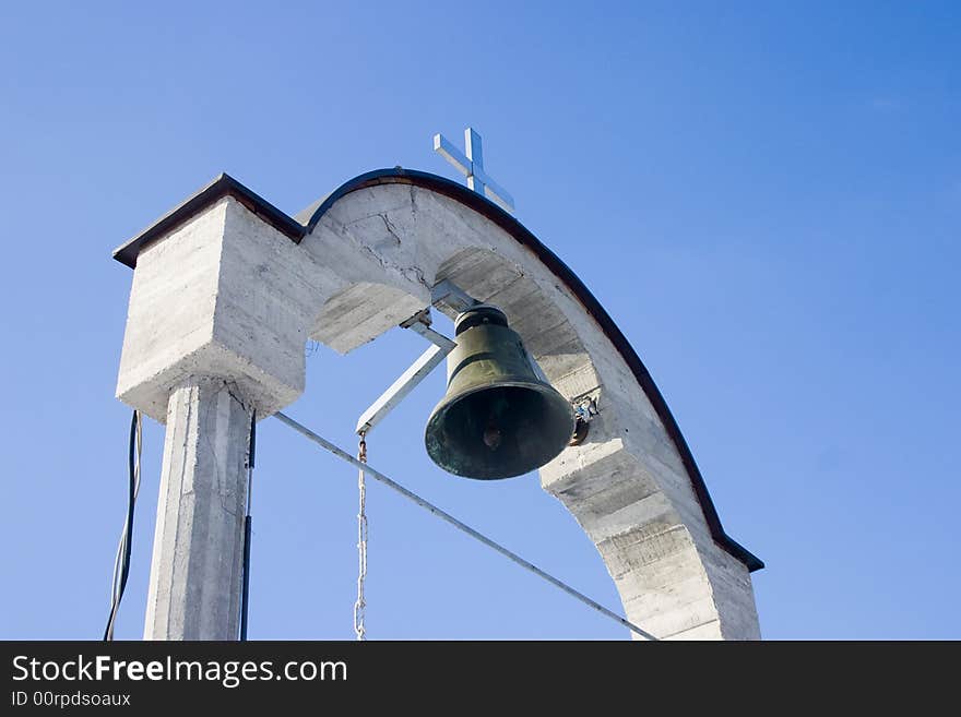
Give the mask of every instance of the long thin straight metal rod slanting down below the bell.
[(286, 416), (285, 414), (280, 413), (280, 411), (274, 414), (274, 416), (276, 418), (278, 418), (282, 422), (286, 423), (287, 426), (293, 428), (295, 431), (300, 433), (301, 435), (310, 439), (311, 441), (313, 441), (315, 443), (317, 443), (321, 447), (330, 451), (331, 453), (333, 453), (335, 456), (337, 456), (342, 461), (346, 461), (351, 465), (359, 468), (360, 470), (366, 473), (368, 476), (370, 476), (370, 477), (375, 478), (376, 480), (379, 480), (380, 482), (385, 485), (388, 488), (394, 489), (404, 498), (412, 500), (420, 507), (429, 511), (430, 513), (432, 513), (437, 517), (441, 518), (442, 521), (450, 523), (452, 526), (454, 526), (459, 530), (462, 530), (463, 533), (466, 533), (468, 536), (471, 536), (475, 540), (478, 540), (479, 542), (483, 542), (488, 548), (496, 550), (505, 558), (515, 562), (521, 567), (524, 567), (524, 569), (529, 570), (530, 572), (534, 573), (535, 575), (537, 575), (538, 577), (544, 578), (545, 581), (547, 581), (548, 583), (550, 583), (555, 587), (560, 588), (561, 590), (563, 590), (565, 593), (567, 593), (571, 597), (577, 598), (578, 600), (580, 600), (581, 602), (583, 602), (588, 607), (593, 608), (594, 610), (596, 610), (601, 614), (606, 616), (606, 617), (610, 618), (612, 620), (615, 620), (616, 622), (620, 623), (625, 628), (628, 628), (632, 632), (639, 634), (641, 637), (644, 637), (646, 640), (652, 640), (652, 641), (657, 640), (651, 633), (646, 632), (645, 630), (642, 630), (641, 628), (639, 628), (638, 625), (628, 621), (627, 619), (621, 618), (616, 612), (608, 610), (603, 605), (601, 605), (600, 602), (596, 602), (595, 600), (592, 600), (583, 593), (580, 593), (579, 590), (576, 590), (574, 588), (567, 585), (566, 583), (562, 583), (558, 578), (554, 577), (554, 575), (550, 575), (549, 573), (545, 573), (543, 570), (541, 570), (539, 567), (537, 567), (533, 563), (524, 560), (520, 555), (518, 555), (515, 552), (512, 552), (512, 551), (508, 550), (507, 548), (505, 548), (503, 546), (501, 546), (500, 543), (495, 542), (494, 540), (491, 540), (487, 536), (485, 536), (482, 533), (478, 533), (477, 530), (472, 528), (470, 525), (462, 523), (461, 521), (455, 518), (450, 513), (442, 511), (441, 509), (437, 507), (432, 503), (429, 503), (428, 501), (426, 501), (423, 498), (420, 498), (419, 495), (417, 495), (417, 493), (410, 491), (406, 488), (404, 488), (403, 486), (401, 486), (400, 483), (391, 480), (390, 478), (388, 478), (385, 475), (383, 475), (379, 470), (376, 470), (375, 468), (371, 468), (369, 465), (361, 463), (360, 461), (358, 461), (357, 458), (352, 456), (349, 453), (341, 450), (340, 447), (337, 447), (336, 445), (334, 445), (333, 443), (331, 443), (327, 439), (318, 435), (317, 433), (311, 431), (306, 426), (301, 426), (300, 423), (295, 421), (289, 416)]

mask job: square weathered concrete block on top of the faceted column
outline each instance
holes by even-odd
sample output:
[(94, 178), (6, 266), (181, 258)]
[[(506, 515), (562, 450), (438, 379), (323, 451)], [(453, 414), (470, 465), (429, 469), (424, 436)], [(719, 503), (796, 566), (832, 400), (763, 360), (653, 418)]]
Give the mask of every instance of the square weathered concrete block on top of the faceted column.
[(269, 416), (302, 393), (316, 306), (345, 285), (224, 198), (138, 256), (117, 397), (164, 422), (174, 386), (215, 375)]

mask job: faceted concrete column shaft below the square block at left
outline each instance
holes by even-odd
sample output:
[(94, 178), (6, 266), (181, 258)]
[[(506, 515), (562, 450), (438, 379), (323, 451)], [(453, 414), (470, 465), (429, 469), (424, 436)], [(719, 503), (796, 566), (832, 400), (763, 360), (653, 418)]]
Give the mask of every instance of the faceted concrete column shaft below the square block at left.
[(221, 379), (170, 394), (144, 640), (236, 640), (250, 408)]

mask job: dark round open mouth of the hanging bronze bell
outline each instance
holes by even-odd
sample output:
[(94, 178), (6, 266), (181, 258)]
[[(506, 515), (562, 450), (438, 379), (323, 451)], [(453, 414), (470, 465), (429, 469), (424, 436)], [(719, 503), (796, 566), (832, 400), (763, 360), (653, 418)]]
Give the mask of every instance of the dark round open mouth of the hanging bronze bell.
[(497, 480), (539, 468), (573, 434), (570, 404), (550, 386), (501, 383), (441, 402), (427, 421), (430, 458), (455, 476)]

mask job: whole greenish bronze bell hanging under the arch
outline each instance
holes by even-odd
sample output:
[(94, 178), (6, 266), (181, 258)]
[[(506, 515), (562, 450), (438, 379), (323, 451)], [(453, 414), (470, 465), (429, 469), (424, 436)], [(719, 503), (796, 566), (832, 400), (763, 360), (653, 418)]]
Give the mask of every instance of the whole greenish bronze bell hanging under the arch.
[(557, 456), (573, 434), (570, 403), (538, 378), (502, 311), (477, 306), (454, 323), (447, 393), (424, 441), (448, 473), (484, 480), (520, 476)]

